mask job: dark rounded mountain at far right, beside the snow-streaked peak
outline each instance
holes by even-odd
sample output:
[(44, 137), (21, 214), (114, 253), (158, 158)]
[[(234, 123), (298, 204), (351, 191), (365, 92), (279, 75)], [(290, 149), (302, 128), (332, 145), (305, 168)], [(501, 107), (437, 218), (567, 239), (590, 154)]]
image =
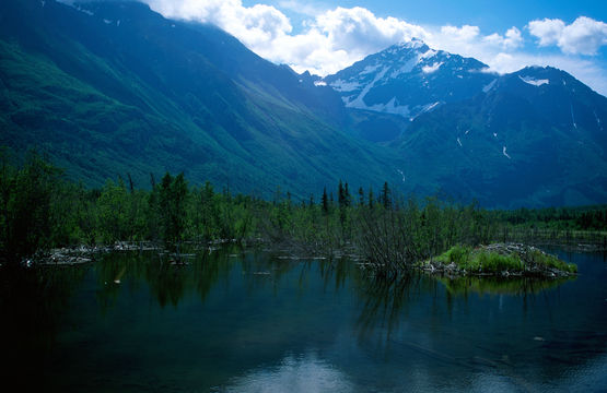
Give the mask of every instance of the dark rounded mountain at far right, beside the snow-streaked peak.
[(498, 206), (591, 204), (607, 201), (605, 121), (606, 97), (534, 67), (416, 118), (395, 145), (421, 193)]

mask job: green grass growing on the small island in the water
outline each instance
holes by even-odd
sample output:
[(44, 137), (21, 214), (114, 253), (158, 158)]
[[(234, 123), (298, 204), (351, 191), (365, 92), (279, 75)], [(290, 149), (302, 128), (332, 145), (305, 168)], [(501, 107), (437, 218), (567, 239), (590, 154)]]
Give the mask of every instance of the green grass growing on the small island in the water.
[(577, 273), (577, 266), (565, 263), (557, 257), (541, 252), (534, 248), (526, 248), (525, 254), (512, 252), (507, 255), (466, 246), (454, 246), (448, 251), (436, 257), (434, 261), (444, 264), (455, 263), (459, 270), (479, 273), (523, 272), (529, 269), (556, 269), (565, 273)]

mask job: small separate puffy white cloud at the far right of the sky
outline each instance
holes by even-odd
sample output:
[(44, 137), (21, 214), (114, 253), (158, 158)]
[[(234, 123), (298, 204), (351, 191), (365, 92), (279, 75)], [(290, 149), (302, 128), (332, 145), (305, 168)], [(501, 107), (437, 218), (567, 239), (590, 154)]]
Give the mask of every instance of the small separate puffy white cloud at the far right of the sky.
[(607, 45), (607, 24), (587, 16), (580, 16), (570, 25), (558, 19), (536, 20), (527, 28), (539, 38), (539, 46), (557, 45), (564, 53), (592, 56)]

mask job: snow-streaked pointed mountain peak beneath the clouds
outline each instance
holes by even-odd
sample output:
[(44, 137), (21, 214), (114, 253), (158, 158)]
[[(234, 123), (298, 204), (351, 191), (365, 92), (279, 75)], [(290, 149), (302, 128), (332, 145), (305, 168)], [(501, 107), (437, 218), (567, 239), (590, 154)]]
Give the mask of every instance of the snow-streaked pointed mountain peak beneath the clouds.
[(482, 62), (433, 50), (419, 39), (390, 46), (324, 82), (346, 107), (395, 114), (407, 119), (437, 106), (470, 98), (497, 79)]

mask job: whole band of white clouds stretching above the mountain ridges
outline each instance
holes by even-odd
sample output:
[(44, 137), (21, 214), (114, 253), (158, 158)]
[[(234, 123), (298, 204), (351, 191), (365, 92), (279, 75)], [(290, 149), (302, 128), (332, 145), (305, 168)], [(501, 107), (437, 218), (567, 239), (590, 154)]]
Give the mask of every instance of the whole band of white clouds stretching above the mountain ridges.
[[(515, 26), (505, 33), (483, 35), (478, 26), (421, 26), (396, 17), (378, 17), (355, 7), (320, 9), (299, 0), (275, 1), (278, 7), (307, 15), (300, 33), (279, 9), (242, 0), (142, 0), (164, 16), (207, 22), (234, 35), (259, 56), (287, 63), (295, 71), (335, 73), (367, 55), (412, 37), (435, 49), (474, 57), (495, 72), (512, 72), (525, 66), (550, 64), (574, 74), (602, 94), (607, 78), (597, 62), (571, 58), (593, 55), (607, 45), (607, 24), (581, 16), (567, 25), (561, 20), (532, 21), (526, 29), (541, 47), (558, 45), (562, 57), (542, 57), (522, 51), (525, 39)], [(307, 4), (307, 5), (306, 5)], [(541, 50), (540, 50), (541, 52)]]

